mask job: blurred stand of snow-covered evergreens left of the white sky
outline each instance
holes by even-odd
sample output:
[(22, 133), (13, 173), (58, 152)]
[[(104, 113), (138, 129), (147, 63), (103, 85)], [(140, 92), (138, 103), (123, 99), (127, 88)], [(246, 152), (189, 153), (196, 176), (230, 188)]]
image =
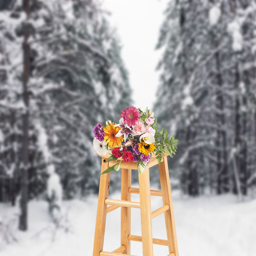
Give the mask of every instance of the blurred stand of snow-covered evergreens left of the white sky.
[[(28, 1), (27, 21), (21, 1), (7, 2), (0, 1), (0, 200), (15, 202), (26, 167), (28, 197), (44, 192), (51, 163), (65, 197), (97, 191), (100, 159), (92, 148), (93, 127), (105, 117), (116, 119), (116, 112), (131, 104), (120, 43), (97, 1)], [(26, 29), (27, 107), (22, 65)]]

